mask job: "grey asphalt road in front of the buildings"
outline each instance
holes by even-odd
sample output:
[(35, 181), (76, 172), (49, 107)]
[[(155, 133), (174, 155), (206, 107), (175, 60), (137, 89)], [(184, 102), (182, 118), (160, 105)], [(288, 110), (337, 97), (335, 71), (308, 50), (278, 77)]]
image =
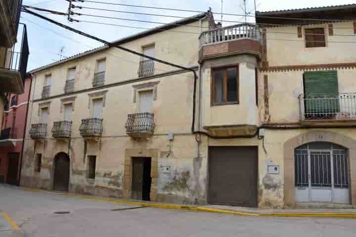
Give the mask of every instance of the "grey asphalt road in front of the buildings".
[[(356, 219), (246, 217), (137, 208), (32, 193), (6, 185), (0, 185), (0, 211), (8, 213), (25, 237), (355, 237), (356, 234)], [(55, 211), (70, 213), (54, 214)]]

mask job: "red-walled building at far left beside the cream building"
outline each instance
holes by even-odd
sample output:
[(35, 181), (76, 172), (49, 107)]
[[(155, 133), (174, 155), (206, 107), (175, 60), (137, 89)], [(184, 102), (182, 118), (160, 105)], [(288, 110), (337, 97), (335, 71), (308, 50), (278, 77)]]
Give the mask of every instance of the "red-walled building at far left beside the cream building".
[(24, 93), (7, 94), (0, 133), (0, 183), (18, 185), (20, 180), (21, 154), (26, 126), (26, 113), (31, 78), (24, 80)]

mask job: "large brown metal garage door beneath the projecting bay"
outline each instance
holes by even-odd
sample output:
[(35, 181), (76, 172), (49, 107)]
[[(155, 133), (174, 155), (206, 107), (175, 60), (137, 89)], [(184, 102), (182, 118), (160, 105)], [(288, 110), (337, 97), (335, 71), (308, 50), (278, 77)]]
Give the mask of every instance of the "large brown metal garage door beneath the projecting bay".
[(209, 147), (209, 203), (257, 207), (257, 159), (257, 147)]

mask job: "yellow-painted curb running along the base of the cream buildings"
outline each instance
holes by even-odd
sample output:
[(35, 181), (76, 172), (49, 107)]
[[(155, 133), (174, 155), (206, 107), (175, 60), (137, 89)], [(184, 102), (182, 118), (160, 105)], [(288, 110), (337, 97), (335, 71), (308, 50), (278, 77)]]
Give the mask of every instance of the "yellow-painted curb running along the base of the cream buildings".
[(139, 205), (145, 207), (153, 207), (153, 208), (164, 208), (164, 209), (180, 209), (180, 210), (190, 210), (190, 211), (204, 211), (204, 212), (214, 212), (214, 213), (224, 213), (224, 214), (234, 214), (239, 216), (254, 216), (254, 217), (324, 217), (324, 218), (356, 218), (356, 213), (251, 213), (251, 212), (241, 212), (234, 210), (224, 210), (224, 209), (216, 209), (209, 207), (198, 207), (198, 206), (189, 206), (189, 205), (175, 205), (175, 204), (160, 204), (160, 203), (149, 203), (149, 202), (140, 202), (140, 201), (127, 201), (122, 199), (113, 199), (113, 198), (105, 198), (105, 197), (95, 197), (95, 196), (87, 196), (87, 195), (76, 195), (76, 194), (67, 194), (67, 193), (57, 193), (50, 192), (45, 190), (35, 190), (35, 189), (27, 189), (27, 188), (19, 188), (23, 191), (33, 192), (33, 193), (48, 193), (48, 194), (57, 194), (66, 197), (80, 197), (91, 200), (98, 201), (110, 201), (121, 204), (129, 204), (129, 205)]

